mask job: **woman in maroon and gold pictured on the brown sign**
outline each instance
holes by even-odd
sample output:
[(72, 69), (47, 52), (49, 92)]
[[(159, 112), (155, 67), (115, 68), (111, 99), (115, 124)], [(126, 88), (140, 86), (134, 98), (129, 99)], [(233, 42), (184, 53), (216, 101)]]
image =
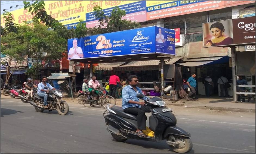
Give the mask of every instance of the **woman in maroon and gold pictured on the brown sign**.
[(210, 39), (206, 42), (206, 46), (221, 46), (233, 44), (233, 39), (231, 37), (224, 36), (224, 26), (222, 23), (217, 22), (211, 25), (210, 31), (214, 39)]

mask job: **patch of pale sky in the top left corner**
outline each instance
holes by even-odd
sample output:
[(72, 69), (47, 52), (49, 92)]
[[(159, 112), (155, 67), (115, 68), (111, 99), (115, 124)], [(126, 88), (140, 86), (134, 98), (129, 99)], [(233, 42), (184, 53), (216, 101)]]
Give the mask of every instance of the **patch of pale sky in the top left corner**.
[[(31, 1), (29, 1), (30, 3), (33, 3)], [(7, 11), (11, 12), (10, 10), (14, 11), (14, 10), (18, 10), (18, 8), (23, 8), (24, 7), (24, 4), (23, 4), (23, 1), (0, 1), (1, 3), (1, 14), (4, 13), (3, 9), (8, 9)], [(17, 8), (16, 5), (19, 5)], [(10, 9), (10, 7), (13, 7)]]

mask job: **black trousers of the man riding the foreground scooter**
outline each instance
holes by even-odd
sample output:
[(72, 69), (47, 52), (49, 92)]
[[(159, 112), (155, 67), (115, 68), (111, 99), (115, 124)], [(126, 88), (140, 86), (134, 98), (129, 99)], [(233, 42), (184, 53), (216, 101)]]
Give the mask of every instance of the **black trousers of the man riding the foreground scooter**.
[(145, 112), (151, 112), (150, 109), (151, 109), (150, 106), (141, 106), (141, 108), (130, 107), (130, 108), (124, 109), (124, 112), (132, 115), (136, 115), (138, 130), (146, 130), (147, 117), (145, 115)]

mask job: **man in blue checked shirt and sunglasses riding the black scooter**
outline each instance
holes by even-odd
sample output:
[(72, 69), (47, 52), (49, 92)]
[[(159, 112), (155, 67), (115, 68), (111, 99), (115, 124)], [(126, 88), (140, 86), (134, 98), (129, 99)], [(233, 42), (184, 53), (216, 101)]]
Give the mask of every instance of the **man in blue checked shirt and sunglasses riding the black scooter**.
[[(127, 85), (122, 90), (122, 108), (125, 113), (133, 114), (137, 116), (138, 128), (136, 133), (139, 137), (145, 137), (146, 135), (142, 130), (146, 130), (146, 115), (145, 112), (151, 112), (150, 106), (143, 106), (145, 103), (140, 102), (137, 98), (137, 94), (142, 94), (142, 91), (138, 86), (139, 81), (137, 76), (131, 75), (127, 78)], [(142, 98), (147, 100), (147, 97)]]

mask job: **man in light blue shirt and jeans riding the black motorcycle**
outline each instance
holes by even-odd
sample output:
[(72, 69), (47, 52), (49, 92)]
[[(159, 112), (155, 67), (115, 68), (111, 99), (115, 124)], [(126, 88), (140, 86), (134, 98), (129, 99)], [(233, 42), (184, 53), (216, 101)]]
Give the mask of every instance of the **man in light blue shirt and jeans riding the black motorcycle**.
[[(49, 92), (48, 88), (50, 89), (53, 89), (55, 90), (54, 87), (52, 87), (49, 83), (46, 82), (47, 81), (47, 78), (45, 76), (42, 77), (42, 82), (40, 82), (38, 84), (38, 90), (37, 90), (37, 94), (40, 96), (40, 97), (43, 97), (44, 98), (44, 108), (48, 108), (47, 106), (47, 98), (48, 98), (48, 95), (46, 94), (46, 92)], [(45, 88), (47, 87), (47, 88)]]

